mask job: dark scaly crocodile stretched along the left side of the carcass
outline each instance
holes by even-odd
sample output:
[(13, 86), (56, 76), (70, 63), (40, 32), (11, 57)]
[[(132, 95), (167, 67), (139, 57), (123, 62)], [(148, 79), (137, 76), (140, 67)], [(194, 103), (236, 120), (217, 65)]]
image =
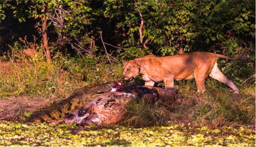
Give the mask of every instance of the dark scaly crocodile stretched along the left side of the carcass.
[(108, 82), (99, 85), (88, 85), (78, 89), (67, 99), (56, 101), (34, 112), (25, 122), (47, 122), (48, 120), (61, 119), (65, 115), (80, 108), (91, 98), (110, 91), (116, 86), (116, 82)]

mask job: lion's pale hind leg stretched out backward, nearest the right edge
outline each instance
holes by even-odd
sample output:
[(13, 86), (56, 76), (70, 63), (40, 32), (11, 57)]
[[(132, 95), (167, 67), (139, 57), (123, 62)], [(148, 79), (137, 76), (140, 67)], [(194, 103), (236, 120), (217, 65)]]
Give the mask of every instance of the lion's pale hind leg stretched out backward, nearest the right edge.
[(226, 85), (228, 85), (230, 88), (234, 89), (235, 90), (235, 93), (236, 94), (239, 94), (239, 90), (238, 88), (236, 87), (236, 85), (231, 81), (229, 80), (221, 71), (220, 69), (218, 68), (218, 65), (217, 65), (217, 62), (215, 62), (213, 68), (212, 68), (212, 71), (210, 73), (210, 77), (212, 77), (213, 79), (215, 80), (218, 80)]

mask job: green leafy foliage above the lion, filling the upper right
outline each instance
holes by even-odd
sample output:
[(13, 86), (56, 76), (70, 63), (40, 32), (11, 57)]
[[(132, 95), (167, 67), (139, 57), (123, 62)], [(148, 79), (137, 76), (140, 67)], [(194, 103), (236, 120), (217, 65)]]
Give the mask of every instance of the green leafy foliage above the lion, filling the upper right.
[[(255, 38), (253, 1), (111, 1), (105, 4), (104, 14), (111, 19), (116, 17), (119, 27), (128, 28), (129, 39), (122, 44), (136, 46), (138, 49), (133, 52), (144, 50), (163, 56), (173, 55), (180, 48), (183, 51), (222, 51), (226, 47), (229, 52), (239, 52), (237, 46), (232, 49), (226, 46), (233, 42), (230, 38), (235, 39), (238, 46), (241, 43), (255, 46), (253, 39), (248, 40)], [(139, 11), (145, 21), (142, 37), (148, 39), (149, 49), (139, 49)], [(126, 53), (130, 56), (131, 52)], [(136, 57), (138, 53), (133, 54)]]

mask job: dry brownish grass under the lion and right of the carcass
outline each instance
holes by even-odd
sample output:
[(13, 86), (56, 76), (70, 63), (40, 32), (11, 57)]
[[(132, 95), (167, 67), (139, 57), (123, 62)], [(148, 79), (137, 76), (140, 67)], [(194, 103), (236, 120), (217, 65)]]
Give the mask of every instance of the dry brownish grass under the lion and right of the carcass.
[(255, 125), (254, 80), (240, 85), (239, 95), (212, 79), (206, 81), (204, 94), (196, 93), (193, 80), (176, 84), (180, 91), (175, 101), (160, 99), (155, 104), (142, 100), (128, 103), (123, 124), (130, 127), (190, 124), (214, 128)]

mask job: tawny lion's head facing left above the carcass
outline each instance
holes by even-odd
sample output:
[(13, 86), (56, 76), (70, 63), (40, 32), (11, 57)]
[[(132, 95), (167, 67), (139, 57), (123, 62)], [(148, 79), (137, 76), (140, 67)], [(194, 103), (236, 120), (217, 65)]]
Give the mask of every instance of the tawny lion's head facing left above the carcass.
[(124, 63), (122, 78), (132, 81), (139, 75), (140, 65), (137, 60), (130, 60)]

